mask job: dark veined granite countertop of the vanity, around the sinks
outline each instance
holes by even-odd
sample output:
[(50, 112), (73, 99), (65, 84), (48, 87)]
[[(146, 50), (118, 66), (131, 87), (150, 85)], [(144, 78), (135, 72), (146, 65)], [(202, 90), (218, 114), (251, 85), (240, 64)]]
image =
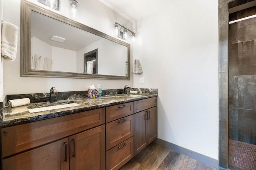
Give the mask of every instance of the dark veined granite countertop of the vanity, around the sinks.
[[(68, 115), (72, 113), (78, 113), (82, 111), (88, 111), (92, 109), (98, 109), (102, 107), (108, 107), (112, 105), (118, 105), (122, 103), (127, 103), (131, 101), (137, 101), (141, 99), (158, 96), (157, 94), (145, 94), (145, 93), (138, 93), (134, 95), (140, 95), (140, 96), (131, 97), (124, 94), (105, 95), (95, 99), (80, 98), (80, 99), (60, 100), (54, 103), (49, 103), (49, 102), (30, 103), (29, 105), (14, 107), (14, 108), (4, 107), (3, 121), (1, 122), (1, 126), (9, 127), (13, 125), (19, 125), (23, 123), (39, 121), (39, 120), (58, 117), (62, 115)], [(68, 103), (77, 103), (77, 104), (80, 104), (80, 106), (54, 109), (54, 110), (48, 110), (48, 111), (40, 111), (36, 113), (30, 113), (28, 111), (28, 109), (33, 109), (33, 108), (48, 107), (53, 105), (63, 105)]]

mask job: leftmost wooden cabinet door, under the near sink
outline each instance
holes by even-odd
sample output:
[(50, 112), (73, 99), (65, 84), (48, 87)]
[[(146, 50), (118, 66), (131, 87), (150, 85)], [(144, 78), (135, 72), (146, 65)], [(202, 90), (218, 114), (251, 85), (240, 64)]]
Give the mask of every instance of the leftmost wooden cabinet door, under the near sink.
[(68, 170), (68, 138), (2, 160), (3, 170)]

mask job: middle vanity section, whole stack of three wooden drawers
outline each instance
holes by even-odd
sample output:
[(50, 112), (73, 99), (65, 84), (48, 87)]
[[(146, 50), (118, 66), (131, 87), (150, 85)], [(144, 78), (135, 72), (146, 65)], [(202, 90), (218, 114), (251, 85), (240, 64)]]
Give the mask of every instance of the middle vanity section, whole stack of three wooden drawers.
[(118, 170), (134, 156), (133, 106), (106, 107), (106, 170)]

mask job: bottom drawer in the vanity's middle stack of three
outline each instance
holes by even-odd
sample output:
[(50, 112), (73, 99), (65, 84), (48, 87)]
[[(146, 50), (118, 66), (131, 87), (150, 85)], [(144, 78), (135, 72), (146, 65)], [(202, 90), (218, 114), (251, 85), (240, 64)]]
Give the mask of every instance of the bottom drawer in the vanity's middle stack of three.
[(106, 170), (118, 170), (134, 156), (133, 137), (106, 152)]

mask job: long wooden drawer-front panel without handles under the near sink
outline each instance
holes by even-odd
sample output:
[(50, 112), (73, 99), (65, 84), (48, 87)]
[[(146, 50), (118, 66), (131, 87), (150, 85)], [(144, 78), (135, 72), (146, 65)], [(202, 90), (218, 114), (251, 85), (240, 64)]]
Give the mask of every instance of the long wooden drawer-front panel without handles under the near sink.
[(2, 157), (46, 144), (105, 122), (104, 108), (2, 128)]

